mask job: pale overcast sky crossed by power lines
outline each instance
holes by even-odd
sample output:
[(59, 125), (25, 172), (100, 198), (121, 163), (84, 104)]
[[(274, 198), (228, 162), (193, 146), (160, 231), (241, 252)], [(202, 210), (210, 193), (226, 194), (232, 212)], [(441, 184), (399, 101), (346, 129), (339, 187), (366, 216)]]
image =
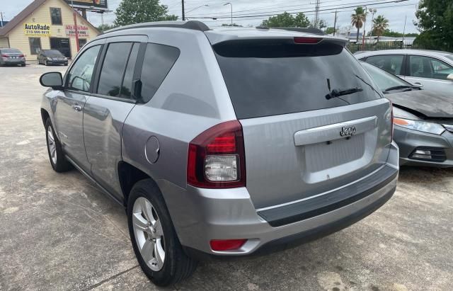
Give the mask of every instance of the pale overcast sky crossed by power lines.
[[(33, 0), (1, 0), (0, 11), (4, 12), (4, 20), (9, 21), (16, 16), (25, 6)], [(115, 9), (122, 0), (107, 0), (108, 8), (112, 11), (104, 14), (104, 23), (113, 23)], [(220, 26), (222, 23), (230, 23), (231, 6), (224, 4), (229, 1), (233, 6), (233, 22), (239, 25), (260, 25), (261, 21), (272, 15), (284, 11), (297, 13), (303, 11), (310, 20), (314, 18), (315, 0), (187, 0), (185, 1), (186, 17), (200, 20), (210, 26)], [(394, 3), (396, 2), (396, 3)], [(367, 6), (376, 8), (374, 16), (383, 15), (389, 19), (389, 28), (394, 31), (403, 32), (405, 18), (406, 33), (417, 33), (413, 25), (415, 10), (419, 0), (321, 0), (319, 17), (333, 26), (335, 10), (338, 10), (337, 23), (339, 28), (347, 28), (350, 25), (350, 15), (355, 6)], [(181, 0), (161, 0), (161, 4), (168, 6), (168, 13), (181, 17)], [(205, 6), (208, 5), (208, 6)], [(200, 7), (201, 6), (201, 7)], [(353, 6), (353, 7), (348, 7)], [(193, 10), (195, 9), (195, 10)], [(191, 11), (193, 10), (193, 11)], [(217, 20), (212, 17), (217, 16)], [(246, 17), (244, 17), (246, 16)], [(367, 18), (365, 29), (371, 29), (371, 14)], [(181, 19), (181, 18), (180, 18)], [(101, 16), (98, 13), (88, 12), (88, 21), (93, 25), (101, 24)]]

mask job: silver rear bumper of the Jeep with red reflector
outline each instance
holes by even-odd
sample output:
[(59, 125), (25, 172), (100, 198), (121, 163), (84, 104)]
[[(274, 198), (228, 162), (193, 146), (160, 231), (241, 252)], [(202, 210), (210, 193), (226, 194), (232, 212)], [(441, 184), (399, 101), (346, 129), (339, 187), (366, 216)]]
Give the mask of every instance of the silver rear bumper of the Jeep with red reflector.
[[(395, 144), (391, 145), (388, 164), (369, 176), (378, 176), (380, 171), (389, 168), (393, 171), (387, 171), (385, 176), (375, 181), (376, 183), (369, 188), (358, 187), (360, 181), (365, 181), (367, 177), (343, 187), (350, 190), (362, 189), (350, 196), (359, 195), (357, 199), (323, 209), (314, 213), (315, 215), (309, 215), (308, 218), (294, 216), (295, 212), (288, 213), (292, 220), (283, 220), (284, 224), (266, 221), (270, 219), (257, 212), (246, 188), (212, 190), (188, 186), (187, 189), (183, 189), (165, 181), (158, 183), (164, 193), (180, 243), (190, 256), (195, 258), (248, 256), (325, 236), (366, 217), (384, 205), (396, 189), (398, 148)], [(379, 186), (376, 187), (377, 185)], [(309, 200), (306, 203), (309, 203)], [(306, 212), (305, 206), (304, 211), (300, 213)], [(210, 248), (211, 239), (248, 239), (248, 241), (241, 249), (219, 252)]]

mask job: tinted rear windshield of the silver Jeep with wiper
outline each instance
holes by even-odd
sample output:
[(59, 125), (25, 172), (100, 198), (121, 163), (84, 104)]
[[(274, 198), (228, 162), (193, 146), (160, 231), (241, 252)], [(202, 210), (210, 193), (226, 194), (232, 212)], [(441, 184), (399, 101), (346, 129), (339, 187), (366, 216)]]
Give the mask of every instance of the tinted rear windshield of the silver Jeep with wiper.
[[(239, 119), (297, 113), (382, 98), (341, 45), (230, 41), (214, 45)], [(330, 90), (329, 90), (330, 85)], [(333, 89), (362, 91), (328, 100)]]

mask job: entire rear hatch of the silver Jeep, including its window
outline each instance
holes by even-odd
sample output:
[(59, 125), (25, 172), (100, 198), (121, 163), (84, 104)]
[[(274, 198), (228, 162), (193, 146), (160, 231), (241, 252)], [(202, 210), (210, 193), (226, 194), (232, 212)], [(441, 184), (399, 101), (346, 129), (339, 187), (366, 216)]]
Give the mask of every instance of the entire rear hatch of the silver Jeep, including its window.
[(243, 126), (257, 209), (321, 195), (386, 163), (389, 101), (343, 45), (314, 39), (213, 46)]

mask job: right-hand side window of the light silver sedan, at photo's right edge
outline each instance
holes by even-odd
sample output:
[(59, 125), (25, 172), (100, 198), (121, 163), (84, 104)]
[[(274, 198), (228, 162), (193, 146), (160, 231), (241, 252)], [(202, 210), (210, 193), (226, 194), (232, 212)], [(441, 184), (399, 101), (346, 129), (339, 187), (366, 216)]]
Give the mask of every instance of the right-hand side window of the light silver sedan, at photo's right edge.
[(447, 76), (453, 74), (452, 66), (432, 57), (411, 56), (409, 63), (411, 76), (447, 80)]

